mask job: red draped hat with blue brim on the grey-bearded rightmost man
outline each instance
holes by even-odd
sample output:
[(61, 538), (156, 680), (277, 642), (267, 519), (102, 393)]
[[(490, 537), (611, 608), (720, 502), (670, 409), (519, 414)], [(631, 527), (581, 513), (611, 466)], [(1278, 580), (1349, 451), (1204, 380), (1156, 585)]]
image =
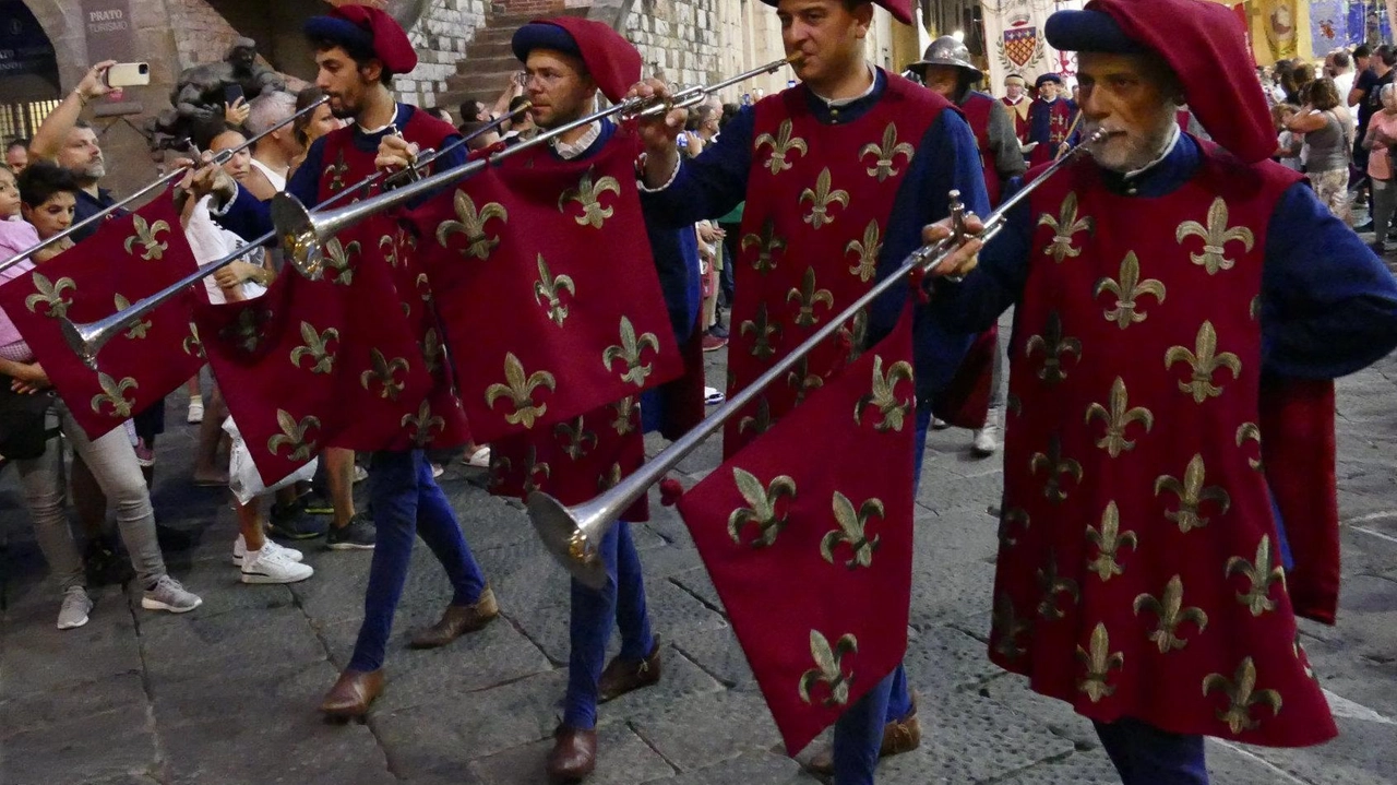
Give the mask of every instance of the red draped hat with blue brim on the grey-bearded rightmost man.
[(1048, 43), (1069, 52), (1154, 53), (1173, 68), (1189, 110), (1213, 141), (1255, 163), (1275, 152), (1275, 129), (1242, 22), (1207, 0), (1091, 0), (1058, 11)]

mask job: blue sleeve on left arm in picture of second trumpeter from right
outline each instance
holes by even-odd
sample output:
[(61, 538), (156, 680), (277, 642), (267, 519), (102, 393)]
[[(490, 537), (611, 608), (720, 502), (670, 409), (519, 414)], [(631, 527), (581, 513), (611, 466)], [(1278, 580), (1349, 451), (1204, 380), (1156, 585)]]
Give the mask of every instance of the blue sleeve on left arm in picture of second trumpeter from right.
[(756, 112), (743, 109), (698, 158), (685, 161), (680, 155), (679, 173), (668, 189), (640, 191), (647, 215), (679, 229), (732, 212), (747, 197), (754, 124)]

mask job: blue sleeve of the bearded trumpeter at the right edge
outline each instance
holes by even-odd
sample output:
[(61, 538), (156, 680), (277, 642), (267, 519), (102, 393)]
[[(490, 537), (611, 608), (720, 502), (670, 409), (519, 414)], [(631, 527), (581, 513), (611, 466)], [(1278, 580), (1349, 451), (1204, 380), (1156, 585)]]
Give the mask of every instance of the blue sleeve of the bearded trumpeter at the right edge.
[(1261, 278), (1266, 372), (1334, 379), (1397, 346), (1397, 281), (1368, 246), (1291, 186), (1271, 215)]

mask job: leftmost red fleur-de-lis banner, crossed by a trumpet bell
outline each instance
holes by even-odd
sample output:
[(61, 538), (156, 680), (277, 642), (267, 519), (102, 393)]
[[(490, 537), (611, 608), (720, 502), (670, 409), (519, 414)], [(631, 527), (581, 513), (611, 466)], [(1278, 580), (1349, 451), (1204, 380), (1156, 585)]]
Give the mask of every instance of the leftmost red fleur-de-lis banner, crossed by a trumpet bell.
[(92, 372), (68, 348), (61, 318), (82, 324), (124, 310), (197, 268), (170, 191), (108, 221), (91, 237), (0, 288), (14, 321), (88, 439), (159, 404), (204, 365), (186, 292), (112, 338)]

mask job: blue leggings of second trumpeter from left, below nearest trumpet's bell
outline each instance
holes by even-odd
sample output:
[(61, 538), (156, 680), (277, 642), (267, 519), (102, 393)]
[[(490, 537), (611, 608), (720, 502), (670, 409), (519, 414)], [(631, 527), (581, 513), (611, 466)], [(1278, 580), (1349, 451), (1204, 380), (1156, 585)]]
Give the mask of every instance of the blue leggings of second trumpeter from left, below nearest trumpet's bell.
[(620, 629), (620, 658), (638, 662), (655, 648), (645, 613), (645, 580), (640, 555), (630, 538), (630, 524), (617, 522), (601, 542), (606, 564), (606, 585), (594, 591), (573, 581), (573, 612), (569, 620), (571, 652), (567, 659), (567, 696), (563, 724), (597, 726), (597, 683), (606, 666), (606, 643), (612, 624)]

